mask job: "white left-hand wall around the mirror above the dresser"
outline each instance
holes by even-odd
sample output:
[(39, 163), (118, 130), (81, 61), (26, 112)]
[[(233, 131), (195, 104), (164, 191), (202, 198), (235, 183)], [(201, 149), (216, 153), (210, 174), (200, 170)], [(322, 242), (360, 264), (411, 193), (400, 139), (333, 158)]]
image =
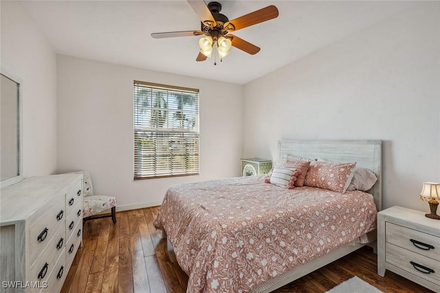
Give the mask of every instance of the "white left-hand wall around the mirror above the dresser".
[(23, 175), (56, 170), (56, 54), (16, 1), (1, 1), (1, 69), (21, 80)]

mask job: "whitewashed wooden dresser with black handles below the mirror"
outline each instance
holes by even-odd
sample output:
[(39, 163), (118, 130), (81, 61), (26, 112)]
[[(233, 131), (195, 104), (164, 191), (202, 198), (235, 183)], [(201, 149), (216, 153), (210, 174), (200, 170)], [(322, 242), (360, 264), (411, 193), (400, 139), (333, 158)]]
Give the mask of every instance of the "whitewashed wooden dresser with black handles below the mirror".
[(36, 176), (0, 191), (0, 292), (59, 292), (83, 243), (83, 175)]

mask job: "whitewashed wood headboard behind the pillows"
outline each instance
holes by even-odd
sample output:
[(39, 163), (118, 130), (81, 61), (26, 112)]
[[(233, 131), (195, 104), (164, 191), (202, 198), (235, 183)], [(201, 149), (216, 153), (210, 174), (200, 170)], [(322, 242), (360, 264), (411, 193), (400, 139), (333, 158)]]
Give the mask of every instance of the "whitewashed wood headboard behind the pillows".
[(374, 197), (377, 211), (382, 211), (382, 141), (381, 140), (282, 140), (278, 141), (278, 158), (287, 154), (340, 163), (356, 162), (357, 167), (371, 169), (377, 182), (368, 192)]

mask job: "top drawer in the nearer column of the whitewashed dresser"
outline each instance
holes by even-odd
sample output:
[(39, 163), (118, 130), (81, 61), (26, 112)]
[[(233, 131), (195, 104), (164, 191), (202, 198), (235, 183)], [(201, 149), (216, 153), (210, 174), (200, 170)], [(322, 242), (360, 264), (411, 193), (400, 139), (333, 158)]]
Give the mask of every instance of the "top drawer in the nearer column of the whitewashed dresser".
[(51, 207), (43, 207), (40, 218), (31, 220), (30, 225), (30, 263), (34, 263), (36, 257), (50, 242), (54, 233), (65, 225), (65, 198), (60, 196), (54, 200)]

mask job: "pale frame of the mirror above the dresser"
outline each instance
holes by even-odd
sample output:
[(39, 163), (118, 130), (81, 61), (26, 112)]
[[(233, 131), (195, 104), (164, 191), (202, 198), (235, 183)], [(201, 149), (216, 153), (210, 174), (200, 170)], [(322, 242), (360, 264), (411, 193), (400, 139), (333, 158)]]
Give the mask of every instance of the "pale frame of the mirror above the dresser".
[(17, 123), (18, 125), (18, 133), (17, 133), (17, 139), (19, 140), (18, 142), (18, 152), (17, 152), (17, 156), (19, 156), (18, 160), (19, 163), (17, 165), (18, 167), (18, 174), (17, 176), (5, 179), (3, 181), (0, 181), (0, 189), (4, 188), (4, 187), (8, 187), (10, 185), (13, 185), (15, 183), (19, 183), (21, 180), (24, 179), (23, 177), (23, 100), (22, 100), (22, 86), (23, 86), (23, 81), (21, 80), (21, 78), (19, 78), (17, 75), (11, 74), (9, 73), (7, 70), (5, 70), (3, 67), (1, 67), (1, 74), (4, 75), (6, 78), (9, 78), (10, 80), (12, 80), (13, 82), (15, 82), (17, 84), (17, 111), (18, 111), (18, 115), (19, 118), (17, 119)]

